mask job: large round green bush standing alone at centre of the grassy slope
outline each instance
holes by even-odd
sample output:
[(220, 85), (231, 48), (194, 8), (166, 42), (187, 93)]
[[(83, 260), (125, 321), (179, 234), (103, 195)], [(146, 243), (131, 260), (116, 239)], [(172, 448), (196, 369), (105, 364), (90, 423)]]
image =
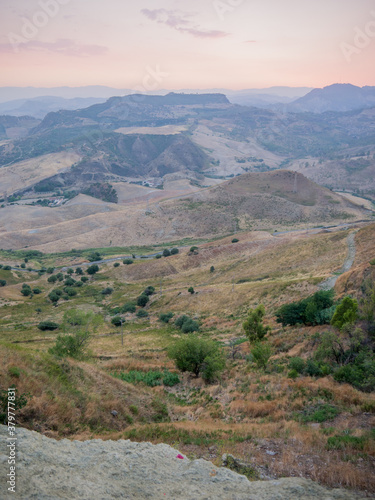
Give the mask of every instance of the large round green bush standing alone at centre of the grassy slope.
[(206, 381), (214, 380), (225, 368), (225, 358), (220, 347), (212, 340), (189, 335), (168, 348), (168, 356), (183, 372), (199, 375)]

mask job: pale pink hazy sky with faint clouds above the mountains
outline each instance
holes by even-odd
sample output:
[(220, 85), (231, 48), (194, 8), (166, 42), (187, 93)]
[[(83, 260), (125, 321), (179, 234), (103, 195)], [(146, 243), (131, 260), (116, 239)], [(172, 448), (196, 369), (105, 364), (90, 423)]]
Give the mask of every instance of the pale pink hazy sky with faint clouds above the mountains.
[(362, 86), (374, 62), (375, 0), (0, 0), (0, 86)]

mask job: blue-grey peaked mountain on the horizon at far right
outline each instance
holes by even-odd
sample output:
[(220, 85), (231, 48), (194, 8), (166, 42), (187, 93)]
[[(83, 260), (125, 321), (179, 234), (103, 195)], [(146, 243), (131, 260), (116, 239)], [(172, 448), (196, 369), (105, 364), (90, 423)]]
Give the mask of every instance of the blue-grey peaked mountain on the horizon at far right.
[(287, 106), (289, 112), (354, 111), (375, 106), (375, 87), (335, 84), (314, 89)]

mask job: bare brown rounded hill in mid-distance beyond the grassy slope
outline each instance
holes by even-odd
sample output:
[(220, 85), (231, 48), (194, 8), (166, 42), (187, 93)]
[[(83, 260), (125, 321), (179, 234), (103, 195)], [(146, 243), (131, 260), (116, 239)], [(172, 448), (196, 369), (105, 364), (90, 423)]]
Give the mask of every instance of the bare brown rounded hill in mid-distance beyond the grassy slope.
[[(121, 187), (115, 188), (121, 192)], [(151, 193), (158, 197), (154, 199)], [(187, 194), (185, 194), (187, 193)], [(163, 192), (139, 188), (129, 202), (62, 207), (7, 206), (0, 210), (0, 247), (26, 245), (54, 252), (71, 248), (162, 243), (211, 238), (242, 230), (288, 230), (348, 223), (368, 211), (289, 171), (249, 173), (218, 186)], [(127, 195), (125, 195), (127, 196)]]

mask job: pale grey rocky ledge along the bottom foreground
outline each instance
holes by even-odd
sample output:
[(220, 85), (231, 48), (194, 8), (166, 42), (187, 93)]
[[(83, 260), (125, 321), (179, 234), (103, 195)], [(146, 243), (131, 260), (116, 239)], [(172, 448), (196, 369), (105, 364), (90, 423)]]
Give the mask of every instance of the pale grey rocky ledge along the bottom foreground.
[(166, 444), (56, 441), (17, 430), (16, 493), (8, 493), (7, 428), (0, 426), (0, 498), (35, 500), (351, 500), (301, 478), (250, 482), (205, 460), (189, 460)]

